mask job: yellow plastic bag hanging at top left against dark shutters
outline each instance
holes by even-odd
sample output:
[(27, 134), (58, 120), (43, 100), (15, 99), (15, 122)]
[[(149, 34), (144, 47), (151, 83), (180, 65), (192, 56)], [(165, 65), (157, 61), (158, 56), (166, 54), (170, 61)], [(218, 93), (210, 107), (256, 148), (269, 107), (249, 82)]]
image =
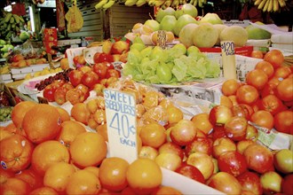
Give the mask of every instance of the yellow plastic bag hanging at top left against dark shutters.
[(78, 32), (83, 27), (83, 14), (76, 6), (76, 1), (71, 7), (69, 7), (65, 19), (67, 20), (68, 33)]

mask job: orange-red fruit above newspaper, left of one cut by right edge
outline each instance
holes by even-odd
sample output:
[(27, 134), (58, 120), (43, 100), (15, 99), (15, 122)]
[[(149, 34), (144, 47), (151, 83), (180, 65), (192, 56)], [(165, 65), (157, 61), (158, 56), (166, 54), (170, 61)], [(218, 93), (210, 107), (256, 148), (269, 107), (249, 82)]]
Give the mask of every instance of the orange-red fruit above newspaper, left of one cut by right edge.
[(273, 114), (268, 111), (259, 110), (251, 115), (250, 120), (266, 129), (273, 129)]

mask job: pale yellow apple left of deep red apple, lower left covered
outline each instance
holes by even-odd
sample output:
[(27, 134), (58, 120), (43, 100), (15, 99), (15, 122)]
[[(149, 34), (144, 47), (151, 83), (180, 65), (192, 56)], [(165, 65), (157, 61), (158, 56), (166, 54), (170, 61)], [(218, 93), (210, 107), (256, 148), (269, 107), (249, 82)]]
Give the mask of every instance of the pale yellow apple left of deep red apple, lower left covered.
[(206, 153), (194, 152), (187, 157), (186, 163), (198, 168), (205, 180), (214, 173), (214, 162), (212, 157)]

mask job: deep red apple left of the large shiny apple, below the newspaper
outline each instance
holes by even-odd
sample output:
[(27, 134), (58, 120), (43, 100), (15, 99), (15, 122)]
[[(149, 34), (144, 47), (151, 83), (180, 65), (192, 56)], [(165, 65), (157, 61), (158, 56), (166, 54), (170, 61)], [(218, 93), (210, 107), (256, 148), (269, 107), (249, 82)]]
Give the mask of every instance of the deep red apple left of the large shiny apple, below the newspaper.
[(218, 168), (220, 171), (238, 176), (247, 171), (247, 163), (241, 153), (236, 151), (228, 151), (219, 155)]

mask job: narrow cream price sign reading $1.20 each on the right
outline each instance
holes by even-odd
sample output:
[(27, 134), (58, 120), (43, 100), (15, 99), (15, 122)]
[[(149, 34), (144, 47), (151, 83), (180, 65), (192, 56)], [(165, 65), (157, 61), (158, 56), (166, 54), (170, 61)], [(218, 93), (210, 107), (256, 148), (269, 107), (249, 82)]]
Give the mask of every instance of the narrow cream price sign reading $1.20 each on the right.
[(221, 42), (221, 50), (224, 77), (226, 79), (236, 79), (236, 58), (234, 42)]

